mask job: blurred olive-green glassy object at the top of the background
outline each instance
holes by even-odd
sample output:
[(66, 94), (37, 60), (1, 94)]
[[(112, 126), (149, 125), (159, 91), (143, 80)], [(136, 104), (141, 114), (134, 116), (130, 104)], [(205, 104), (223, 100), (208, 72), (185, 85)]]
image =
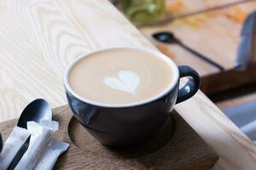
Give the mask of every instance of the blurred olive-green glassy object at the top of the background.
[(162, 19), (165, 0), (110, 0), (135, 26)]

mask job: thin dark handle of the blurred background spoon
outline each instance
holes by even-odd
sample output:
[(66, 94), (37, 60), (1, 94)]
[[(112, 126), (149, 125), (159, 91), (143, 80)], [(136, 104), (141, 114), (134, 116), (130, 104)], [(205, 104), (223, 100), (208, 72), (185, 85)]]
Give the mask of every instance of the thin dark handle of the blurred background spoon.
[(183, 42), (177, 41), (177, 44), (180, 45), (182, 48), (186, 49), (187, 51), (189, 51), (191, 54), (194, 54), (195, 56), (205, 60), (207, 63), (209, 63), (210, 65), (214, 65), (215, 67), (217, 67), (219, 70), (224, 71), (224, 67), (221, 65), (218, 65), (218, 63), (216, 63), (215, 61), (213, 61), (212, 59), (208, 59), (206, 56), (198, 53), (197, 51), (195, 51), (192, 48), (189, 48), (187, 45), (183, 44)]

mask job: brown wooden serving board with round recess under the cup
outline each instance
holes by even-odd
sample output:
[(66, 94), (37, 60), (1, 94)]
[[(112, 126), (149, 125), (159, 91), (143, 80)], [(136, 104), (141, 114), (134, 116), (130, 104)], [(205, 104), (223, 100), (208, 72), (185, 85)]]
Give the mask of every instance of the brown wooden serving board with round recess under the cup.
[[(146, 143), (131, 150), (109, 150), (88, 133), (73, 117), (69, 107), (61, 106), (54, 111), (54, 120), (60, 124), (55, 138), (70, 144), (61, 156), (55, 169), (106, 169), (106, 170), (210, 170), (218, 161), (216, 153), (177, 114), (172, 112), (175, 133), (171, 119)], [(0, 131), (6, 138), (16, 121), (0, 123)]]

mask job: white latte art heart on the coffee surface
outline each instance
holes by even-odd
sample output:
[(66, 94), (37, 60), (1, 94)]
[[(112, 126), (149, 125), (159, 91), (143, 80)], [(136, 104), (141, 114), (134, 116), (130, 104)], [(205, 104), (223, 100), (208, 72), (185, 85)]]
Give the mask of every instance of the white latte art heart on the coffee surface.
[(140, 77), (134, 71), (119, 71), (118, 77), (105, 77), (103, 82), (109, 88), (137, 95)]

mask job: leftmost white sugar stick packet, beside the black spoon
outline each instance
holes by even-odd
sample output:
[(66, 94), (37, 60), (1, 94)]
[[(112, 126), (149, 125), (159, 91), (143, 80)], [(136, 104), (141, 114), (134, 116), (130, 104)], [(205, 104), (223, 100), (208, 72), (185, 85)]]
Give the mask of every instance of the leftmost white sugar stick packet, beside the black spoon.
[(31, 135), (25, 128), (15, 127), (3, 144), (0, 154), (0, 169), (6, 170), (26, 139)]

